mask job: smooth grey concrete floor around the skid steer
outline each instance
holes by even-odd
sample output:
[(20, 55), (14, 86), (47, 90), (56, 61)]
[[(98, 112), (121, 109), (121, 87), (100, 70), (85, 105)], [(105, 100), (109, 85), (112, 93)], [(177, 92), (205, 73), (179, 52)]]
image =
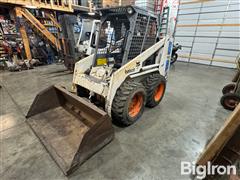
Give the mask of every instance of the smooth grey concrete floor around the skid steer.
[(219, 99), (233, 70), (178, 62), (162, 103), (130, 127), (114, 126), (115, 139), (67, 178), (24, 122), (40, 90), (70, 87), (72, 75), (64, 69), (49, 65), (0, 74), (1, 179), (187, 180), (180, 162), (196, 161), (230, 113)]

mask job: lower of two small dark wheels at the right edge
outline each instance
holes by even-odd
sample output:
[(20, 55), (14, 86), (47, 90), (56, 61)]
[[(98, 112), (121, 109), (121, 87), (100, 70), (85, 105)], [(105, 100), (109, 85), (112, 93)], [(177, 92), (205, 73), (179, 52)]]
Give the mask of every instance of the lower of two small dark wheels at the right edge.
[(239, 103), (240, 103), (240, 96), (233, 93), (225, 94), (221, 98), (222, 106), (225, 109), (230, 111), (233, 111)]

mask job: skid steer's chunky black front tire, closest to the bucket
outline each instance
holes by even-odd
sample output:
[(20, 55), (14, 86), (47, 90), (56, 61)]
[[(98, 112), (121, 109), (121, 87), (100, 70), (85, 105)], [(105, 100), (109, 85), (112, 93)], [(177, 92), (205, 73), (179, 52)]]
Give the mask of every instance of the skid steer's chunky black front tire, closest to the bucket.
[[(135, 97), (142, 98), (139, 104), (139, 111), (136, 115), (131, 116), (132, 101)], [(146, 104), (146, 91), (142, 83), (127, 81), (117, 90), (112, 104), (113, 122), (121, 126), (129, 126), (136, 122), (143, 114)]]

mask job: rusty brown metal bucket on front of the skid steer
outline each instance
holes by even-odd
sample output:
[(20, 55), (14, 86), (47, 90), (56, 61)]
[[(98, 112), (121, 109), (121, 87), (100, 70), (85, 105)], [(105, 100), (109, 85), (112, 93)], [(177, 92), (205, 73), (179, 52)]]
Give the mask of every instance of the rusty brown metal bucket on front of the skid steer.
[(27, 123), (65, 175), (114, 137), (106, 112), (59, 86), (36, 96)]

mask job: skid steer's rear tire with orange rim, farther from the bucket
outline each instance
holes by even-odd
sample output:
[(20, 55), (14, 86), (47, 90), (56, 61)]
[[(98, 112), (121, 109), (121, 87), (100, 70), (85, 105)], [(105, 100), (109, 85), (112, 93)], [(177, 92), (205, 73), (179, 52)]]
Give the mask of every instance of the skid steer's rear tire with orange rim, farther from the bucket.
[[(147, 103), (146, 106), (153, 108), (157, 106), (164, 97), (165, 90), (166, 90), (166, 79), (158, 73), (151, 74), (148, 76), (143, 82), (146, 92), (147, 92)], [(161, 89), (160, 97), (155, 98), (156, 91), (158, 88)]]

